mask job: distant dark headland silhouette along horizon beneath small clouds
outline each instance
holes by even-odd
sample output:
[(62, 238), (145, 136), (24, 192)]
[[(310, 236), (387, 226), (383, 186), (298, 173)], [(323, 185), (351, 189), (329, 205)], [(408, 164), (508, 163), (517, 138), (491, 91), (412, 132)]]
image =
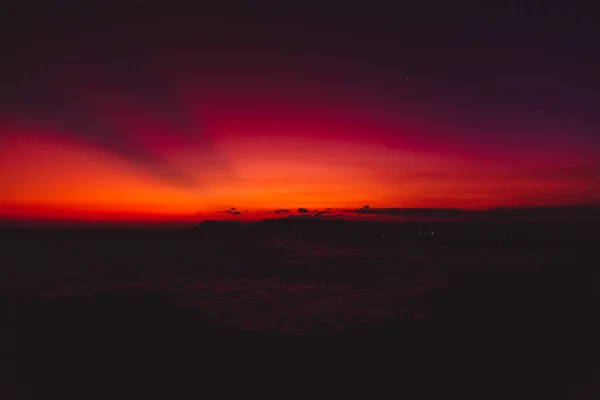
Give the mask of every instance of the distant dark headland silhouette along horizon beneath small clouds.
[[(253, 224), (205, 221), (193, 231), (211, 237), (256, 238), (285, 236), (302, 231), (303, 237), (332, 241), (428, 241), (449, 246), (487, 246), (528, 249), (587, 247), (597, 243), (599, 225), (593, 222), (384, 222), (315, 218), (312, 215), (288, 219), (266, 219)], [(298, 218), (301, 217), (301, 218)], [(431, 234), (433, 233), (433, 234)]]

